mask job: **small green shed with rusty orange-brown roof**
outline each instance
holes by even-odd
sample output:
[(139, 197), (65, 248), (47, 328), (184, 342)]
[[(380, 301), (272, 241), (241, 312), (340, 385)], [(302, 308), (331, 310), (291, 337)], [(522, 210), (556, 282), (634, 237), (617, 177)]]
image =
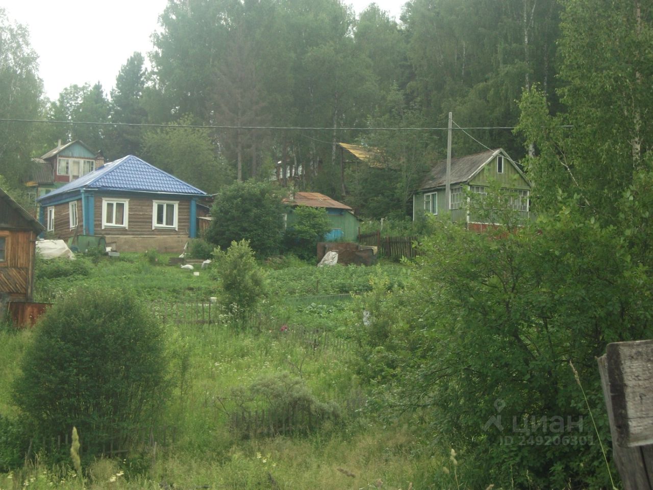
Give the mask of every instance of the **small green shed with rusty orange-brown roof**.
[(295, 192), (283, 202), (290, 206), (285, 216), (286, 226), (291, 226), (295, 222), (293, 208), (296, 206), (324, 208), (327, 210), (328, 219), (332, 224), (332, 229), (325, 237), (325, 241), (355, 241), (358, 238), (358, 218), (355, 216), (354, 210), (347, 204), (338, 203), (338, 201), (317, 192)]

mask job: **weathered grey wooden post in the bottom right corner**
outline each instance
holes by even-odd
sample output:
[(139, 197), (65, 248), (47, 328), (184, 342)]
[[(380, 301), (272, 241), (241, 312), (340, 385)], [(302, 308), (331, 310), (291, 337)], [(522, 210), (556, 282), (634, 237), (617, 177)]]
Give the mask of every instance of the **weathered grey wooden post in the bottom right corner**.
[(597, 362), (624, 490), (653, 490), (653, 340), (608, 344)]

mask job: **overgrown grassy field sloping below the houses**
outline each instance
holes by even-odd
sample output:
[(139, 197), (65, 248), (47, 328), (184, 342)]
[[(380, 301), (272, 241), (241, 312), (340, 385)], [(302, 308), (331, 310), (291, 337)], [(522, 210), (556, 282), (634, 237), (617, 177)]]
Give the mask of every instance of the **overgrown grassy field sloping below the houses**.
[[(200, 271), (200, 276), (193, 276), (178, 266), (157, 265), (166, 261), (159, 258), (152, 263), (140, 255), (98, 263), (80, 259), (74, 265), (40, 263), (37, 296), (56, 301), (73, 287), (89, 284), (129, 286), (149, 302), (215, 295), (211, 274)], [(360, 317), (360, 307), (356, 301), (332, 295), (367, 291), (370, 277), (379, 273), (401, 284), (406, 268), (389, 264), (317, 269), (276, 263), (268, 269), (272, 293), (264, 325), (269, 328), (243, 329), (229, 321), (167, 325), (173, 389), (162, 422), (168, 427), (165, 444), (87, 461), (84, 478), (74, 476), (65, 463), (53, 465), (45, 455), (37, 455), (22, 468), (0, 474), (0, 489), (464, 486), (456, 483), (450, 448), (442, 446), (434, 455), (432, 441), (422, 440), (424, 432), (418, 436), (409, 418), (390, 423), (379, 417), (367, 404), (366, 384), (351, 368), (355, 345), (348, 329)], [(330, 335), (328, 342), (321, 336), (324, 332)], [(32, 337), (31, 330), (0, 331), (0, 416), (20, 419), (11, 402), (10, 385)], [(301, 392), (330, 407), (331, 416), (310, 431), (256, 433), (242, 419), (239, 424), (236, 416), (264, 406), (260, 397), (251, 395), (251, 387), (257, 384)], [(83, 451), (84, 434), (80, 437)], [(443, 466), (451, 471), (443, 471)]]

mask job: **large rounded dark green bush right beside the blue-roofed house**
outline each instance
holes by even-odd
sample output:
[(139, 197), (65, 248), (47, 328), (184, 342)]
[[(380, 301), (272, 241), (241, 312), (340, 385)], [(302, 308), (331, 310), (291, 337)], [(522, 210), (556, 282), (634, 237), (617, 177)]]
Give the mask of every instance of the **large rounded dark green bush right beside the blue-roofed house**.
[(258, 255), (278, 253), (283, 228), (281, 196), (266, 184), (236, 182), (215, 197), (206, 240), (223, 249), (248, 240)]

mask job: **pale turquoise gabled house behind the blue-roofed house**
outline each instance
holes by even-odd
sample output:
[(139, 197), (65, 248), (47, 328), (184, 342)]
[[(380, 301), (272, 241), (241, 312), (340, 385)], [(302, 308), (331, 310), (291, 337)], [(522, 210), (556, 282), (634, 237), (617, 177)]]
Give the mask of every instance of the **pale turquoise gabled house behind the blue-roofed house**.
[(40, 158), (34, 158), (33, 172), (25, 185), (35, 197), (42, 197), (104, 165), (101, 152), (93, 151), (81, 140), (57, 144)]

